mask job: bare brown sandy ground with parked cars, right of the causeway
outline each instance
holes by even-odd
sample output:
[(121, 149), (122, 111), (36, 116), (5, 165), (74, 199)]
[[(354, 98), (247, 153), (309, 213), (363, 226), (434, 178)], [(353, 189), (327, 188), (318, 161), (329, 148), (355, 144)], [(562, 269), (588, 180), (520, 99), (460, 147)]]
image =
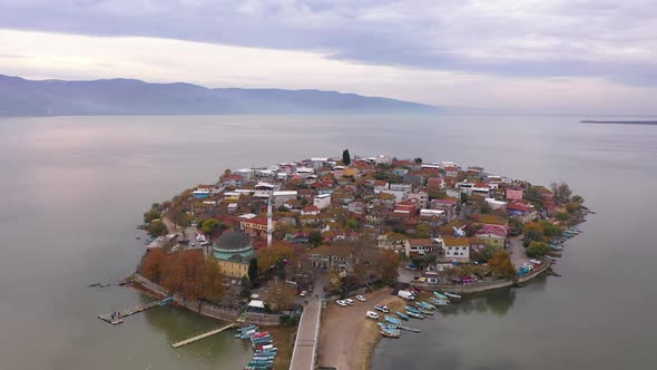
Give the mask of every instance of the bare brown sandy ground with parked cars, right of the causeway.
[(384, 288), (365, 294), (366, 302), (341, 308), (331, 302), (322, 313), (318, 362), (322, 367), (366, 370), (371, 367), (374, 347), (381, 339), (376, 322), (365, 318), (366, 311), (374, 311), (374, 304), (400, 302), (392, 295), (392, 289)]

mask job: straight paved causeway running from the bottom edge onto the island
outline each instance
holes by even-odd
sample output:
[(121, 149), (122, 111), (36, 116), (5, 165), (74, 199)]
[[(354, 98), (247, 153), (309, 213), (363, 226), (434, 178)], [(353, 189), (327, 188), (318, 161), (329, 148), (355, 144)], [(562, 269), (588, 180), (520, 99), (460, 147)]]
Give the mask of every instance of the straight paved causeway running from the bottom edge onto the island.
[(315, 368), (321, 315), (322, 302), (320, 298), (313, 296), (304, 308), (298, 323), (290, 364), (291, 370), (312, 370)]

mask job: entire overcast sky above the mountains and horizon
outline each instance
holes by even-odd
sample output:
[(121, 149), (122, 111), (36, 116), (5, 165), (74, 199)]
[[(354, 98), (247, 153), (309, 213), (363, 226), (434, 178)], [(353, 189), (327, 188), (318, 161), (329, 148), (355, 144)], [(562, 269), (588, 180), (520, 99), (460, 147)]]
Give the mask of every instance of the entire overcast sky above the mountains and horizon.
[(657, 114), (657, 1), (0, 0), (0, 74)]

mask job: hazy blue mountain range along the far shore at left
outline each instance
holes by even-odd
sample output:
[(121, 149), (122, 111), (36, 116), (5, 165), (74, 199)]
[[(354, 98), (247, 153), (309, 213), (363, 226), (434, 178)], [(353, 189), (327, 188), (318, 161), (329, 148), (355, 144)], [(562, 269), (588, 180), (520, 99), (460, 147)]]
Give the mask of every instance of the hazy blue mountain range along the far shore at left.
[(134, 79), (27, 80), (0, 75), (0, 116), (430, 114), (439, 108), (321, 90), (205, 88)]

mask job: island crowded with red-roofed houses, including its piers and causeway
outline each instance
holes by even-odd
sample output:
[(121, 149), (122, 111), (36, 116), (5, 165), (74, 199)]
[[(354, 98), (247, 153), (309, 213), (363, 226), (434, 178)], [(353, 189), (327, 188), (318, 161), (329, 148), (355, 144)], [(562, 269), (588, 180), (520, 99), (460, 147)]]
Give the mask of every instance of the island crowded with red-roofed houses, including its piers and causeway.
[[(244, 369), (369, 369), (382, 338), (469, 294), (556, 274), (590, 211), (549, 187), (453, 162), (380, 155), (226, 169), (153, 204), (146, 252), (126, 284), (248, 340)], [(404, 334), (405, 335), (405, 334)]]

